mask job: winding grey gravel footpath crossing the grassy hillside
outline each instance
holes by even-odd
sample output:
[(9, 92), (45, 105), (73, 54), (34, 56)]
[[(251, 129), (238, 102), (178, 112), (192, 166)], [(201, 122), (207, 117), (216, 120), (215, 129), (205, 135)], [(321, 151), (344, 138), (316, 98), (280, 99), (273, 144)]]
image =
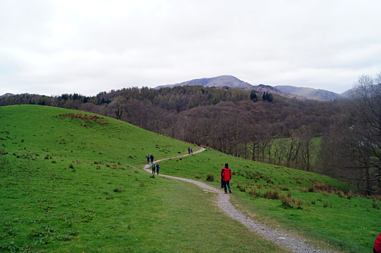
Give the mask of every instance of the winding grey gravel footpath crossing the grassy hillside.
[[(200, 150), (195, 151), (194, 154), (202, 152), (204, 150), (205, 150), (205, 148), (201, 148)], [(176, 156), (176, 157), (170, 157), (170, 158), (176, 159), (176, 158), (187, 156), (187, 155), (189, 155), (189, 154)], [(156, 163), (164, 161), (164, 160), (168, 160), (170, 158), (157, 160)], [(145, 165), (144, 170), (149, 172), (149, 173), (152, 173), (152, 169), (150, 167), (150, 164)], [(212, 187), (206, 183), (196, 181), (196, 180), (192, 180), (192, 179), (167, 176), (167, 175), (162, 175), (162, 174), (160, 174), (160, 176), (174, 178), (174, 179), (186, 181), (189, 183), (194, 183), (194, 184), (200, 186), (206, 192), (213, 192), (213, 193), (218, 194), (217, 206), (223, 212), (225, 212), (228, 216), (232, 217), (233, 219), (238, 220), (238, 222), (240, 222), (241, 224), (243, 224), (247, 228), (251, 229), (252, 231), (255, 231), (255, 232), (261, 234), (266, 239), (271, 240), (271, 241), (278, 243), (280, 245), (283, 245), (283, 246), (291, 249), (294, 252), (297, 252), (297, 253), (309, 253), (309, 252), (311, 252), (311, 253), (313, 253), (313, 252), (329, 253), (329, 252), (332, 252), (332, 251), (325, 250), (325, 249), (313, 248), (312, 246), (305, 243), (304, 241), (306, 241), (306, 240), (304, 240), (302, 238), (297, 238), (291, 234), (288, 234), (285, 231), (281, 231), (278, 229), (271, 229), (271, 228), (268, 228), (268, 227), (266, 227), (260, 223), (253, 222), (253, 220), (251, 220), (249, 217), (245, 216), (242, 212), (238, 211), (232, 205), (232, 203), (230, 203), (229, 194), (225, 194), (224, 191), (221, 191), (217, 188), (214, 188), (214, 187)]]

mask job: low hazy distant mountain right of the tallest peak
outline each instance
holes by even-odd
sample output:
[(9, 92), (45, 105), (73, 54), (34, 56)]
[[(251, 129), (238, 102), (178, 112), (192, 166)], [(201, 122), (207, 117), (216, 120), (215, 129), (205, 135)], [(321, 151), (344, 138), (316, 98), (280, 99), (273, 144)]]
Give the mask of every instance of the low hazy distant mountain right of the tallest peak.
[(277, 88), (278, 90), (282, 91), (282, 92), (288, 92), (288, 93), (296, 94), (296, 95), (302, 96), (306, 99), (328, 101), (328, 100), (335, 100), (337, 98), (339, 98), (339, 99), (345, 98), (345, 96), (341, 96), (341, 94), (338, 94), (338, 93), (335, 93), (332, 91), (328, 91), (328, 90), (324, 90), (324, 89), (295, 87), (295, 86), (289, 86), (289, 85), (278, 85), (278, 86), (274, 86), (274, 87)]

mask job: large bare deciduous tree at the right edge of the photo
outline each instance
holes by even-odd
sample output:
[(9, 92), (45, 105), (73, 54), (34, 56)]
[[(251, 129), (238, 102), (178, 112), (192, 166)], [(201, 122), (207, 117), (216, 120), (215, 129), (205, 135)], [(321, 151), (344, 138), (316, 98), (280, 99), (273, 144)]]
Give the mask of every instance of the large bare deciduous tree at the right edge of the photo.
[[(330, 159), (324, 169), (351, 181), (368, 193), (381, 191), (381, 72), (376, 78), (362, 75), (354, 84), (348, 106), (330, 134), (326, 146)], [(324, 157), (323, 157), (324, 159)]]

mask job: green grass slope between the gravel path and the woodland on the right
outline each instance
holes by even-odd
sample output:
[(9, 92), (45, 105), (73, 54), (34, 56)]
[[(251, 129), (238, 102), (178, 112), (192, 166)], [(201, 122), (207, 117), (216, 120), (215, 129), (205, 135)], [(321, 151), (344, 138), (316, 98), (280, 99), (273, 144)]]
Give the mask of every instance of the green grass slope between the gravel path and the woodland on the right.
[[(229, 164), (234, 174), (231, 183), (232, 202), (238, 209), (252, 215), (252, 218), (270, 226), (281, 225), (285, 229), (297, 231), (306, 238), (325, 240), (347, 252), (366, 252), (373, 247), (374, 240), (381, 231), (381, 203), (376, 199), (374, 203), (377, 206), (373, 208), (372, 199), (347, 199), (332, 193), (324, 195), (316, 188), (313, 192), (308, 192), (308, 187), (314, 181), (347, 190), (347, 187), (330, 177), (245, 161), (212, 150), (182, 157), (181, 160), (167, 160), (162, 165), (166, 168), (163, 174), (195, 180), (205, 181), (206, 175), (212, 173), (215, 180), (210, 183), (220, 187), (219, 175), (225, 163)], [(201, 179), (196, 179), (196, 174), (200, 175)], [(237, 187), (238, 182), (242, 183), (242, 191)], [(300, 199), (300, 208), (294, 204), (293, 207), (285, 209), (280, 200), (248, 194), (249, 191), (257, 191), (261, 196), (267, 190), (274, 192), (277, 185), (279, 196), (290, 193), (295, 200)], [(283, 186), (289, 187), (289, 191), (279, 189), (284, 189)], [(324, 203), (327, 207), (324, 207)]]

